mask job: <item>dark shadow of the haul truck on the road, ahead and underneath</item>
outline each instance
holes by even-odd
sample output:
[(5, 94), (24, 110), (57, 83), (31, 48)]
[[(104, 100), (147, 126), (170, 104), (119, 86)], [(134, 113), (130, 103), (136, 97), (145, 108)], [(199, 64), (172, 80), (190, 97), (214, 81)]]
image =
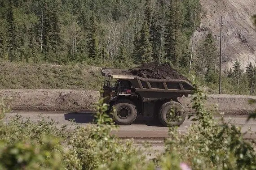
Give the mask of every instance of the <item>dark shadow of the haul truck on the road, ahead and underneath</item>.
[[(93, 123), (94, 114), (92, 112), (71, 112), (64, 115), (65, 120), (76, 123)], [(137, 119), (132, 124), (145, 124), (147, 126), (163, 126), (158, 119), (143, 118), (142, 115), (138, 115)]]

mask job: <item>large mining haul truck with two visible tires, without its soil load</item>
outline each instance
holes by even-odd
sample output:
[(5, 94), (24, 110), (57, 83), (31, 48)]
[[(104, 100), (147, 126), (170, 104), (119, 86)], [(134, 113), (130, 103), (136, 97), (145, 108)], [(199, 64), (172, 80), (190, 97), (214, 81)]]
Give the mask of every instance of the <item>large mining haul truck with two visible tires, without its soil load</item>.
[[(101, 73), (109, 77), (101, 96), (117, 124), (130, 125), (138, 114), (158, 117), (164, 126), (180, 126), (184, 122), (185, 108), (177, 98), (192, 93), (193, 86), (188, 81), (144, 78), (124, 69), (102, 68)], [(111, 78), (117, 81), (111, 83)]]

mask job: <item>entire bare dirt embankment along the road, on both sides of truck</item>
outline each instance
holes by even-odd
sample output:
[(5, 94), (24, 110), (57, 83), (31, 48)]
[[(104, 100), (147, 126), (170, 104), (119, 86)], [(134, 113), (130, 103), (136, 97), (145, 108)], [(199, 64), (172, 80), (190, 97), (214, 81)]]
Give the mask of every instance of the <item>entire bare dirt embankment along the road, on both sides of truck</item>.
[[(99, 100), (99, 92), (93, 90), (64, 89), (5, 89), (0, 90), (0, 97), (13, 98), (13, 110), (47, 110), (47, 111), (94, 111), (93, 105)], [(249, 115), (256, 109), (249, 100), (256, 96), (209, 95), (207, 108), (218, 104), (220, 112), (227, 115)], [(189, 111), (190, 98), (179, 98)]]

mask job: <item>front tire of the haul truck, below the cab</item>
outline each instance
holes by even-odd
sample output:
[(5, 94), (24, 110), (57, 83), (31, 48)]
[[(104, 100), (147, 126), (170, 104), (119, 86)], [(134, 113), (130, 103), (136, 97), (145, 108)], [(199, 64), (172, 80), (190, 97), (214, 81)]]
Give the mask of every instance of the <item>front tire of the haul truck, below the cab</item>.
[[(115, 108), (115, 112), (113, 111)], [(119, 125), (130, 125), (137, 118), (137, 109), (135, 104), (127, 99), (122, 99), (112, 106), (111, 112), (115, 123)]]

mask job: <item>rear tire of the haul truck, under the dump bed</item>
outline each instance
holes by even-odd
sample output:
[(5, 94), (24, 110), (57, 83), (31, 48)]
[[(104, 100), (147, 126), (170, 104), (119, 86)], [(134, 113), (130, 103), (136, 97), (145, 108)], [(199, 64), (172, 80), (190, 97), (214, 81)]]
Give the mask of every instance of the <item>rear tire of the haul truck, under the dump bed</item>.
[(166, 102), (159, 110), (159, 120), (164, 126), (180, 126), (185, 117), (185, 109), (179, 102)]

